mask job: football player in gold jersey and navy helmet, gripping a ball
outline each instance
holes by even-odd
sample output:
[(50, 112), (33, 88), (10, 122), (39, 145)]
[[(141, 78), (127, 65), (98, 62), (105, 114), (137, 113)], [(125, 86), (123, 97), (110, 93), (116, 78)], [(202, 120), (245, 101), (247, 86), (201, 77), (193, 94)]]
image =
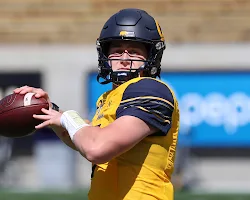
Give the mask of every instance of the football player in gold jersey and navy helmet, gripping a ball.
[[(93, 164), (90, 200), (171, 200), (179, 109), (160, 76), (165, 49), (158, 22), (140, 9), (123, 9), (97, 40), (98, 81), (113, 89), (97, 100), (91, 124), (74, 110), (42, 109), (36, 128), (52, 127)], [(24, 86), (16, 93), (48, 94)]]

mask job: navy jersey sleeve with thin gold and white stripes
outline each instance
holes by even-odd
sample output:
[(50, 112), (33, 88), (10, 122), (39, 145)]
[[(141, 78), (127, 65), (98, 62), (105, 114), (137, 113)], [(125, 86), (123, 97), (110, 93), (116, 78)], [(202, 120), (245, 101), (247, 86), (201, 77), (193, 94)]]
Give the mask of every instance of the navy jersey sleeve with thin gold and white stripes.
[(141, 79), (124, 91), (116, 117), (135, 116), (166, 135), (171, 128), (174, 98), (170, 89), (154, 79)]

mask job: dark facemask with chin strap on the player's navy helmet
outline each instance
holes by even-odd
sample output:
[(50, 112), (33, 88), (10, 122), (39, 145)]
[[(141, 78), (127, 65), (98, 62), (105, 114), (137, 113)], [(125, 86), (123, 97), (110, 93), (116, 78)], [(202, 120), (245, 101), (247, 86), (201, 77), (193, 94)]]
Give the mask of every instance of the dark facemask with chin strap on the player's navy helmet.
[[(122, 40), (121, 40), (122, 41)], [(113, 59), (108, 57), (108, 49), (110, 42), (103, 42), (97, 40), (97, 51), (98, 51), (98, 76), (97, 80), (101, 84), (107, 84), (113, 82), (116, 85), (120, 85), (130, 79), (137, 77), (160, 77), (160, 61), (163, 53), (157, 51), (156, 45), (154, 43), (141, 42), (146, 46), (148, 51), (148, 58), (146, 60), (142, 59)], [(133, 56), (131, 56), (133, 57)], [(128, 61), (130, 62), (129, 70), (124, 71), (113, 71), (112, 61)], [(132, 68), (133, 62), (142, 62), (142, 65), (139, 68)], [(100, 78), (104, 81), (100, 81)]]

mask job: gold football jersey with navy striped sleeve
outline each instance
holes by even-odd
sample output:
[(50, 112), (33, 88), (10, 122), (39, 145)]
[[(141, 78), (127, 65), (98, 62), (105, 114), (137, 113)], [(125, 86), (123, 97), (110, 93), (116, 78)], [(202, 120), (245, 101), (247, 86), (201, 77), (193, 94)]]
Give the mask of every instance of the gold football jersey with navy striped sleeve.
[(109, 162), (93, 165), (89, 199), (172, 200), (170, 180), (179, 129), (178, 103), (172, 90), (160, 80), (134, 78), (101, 95), (96, 106), (93, 126), (103, 128), (132, 115), (159, 131)]

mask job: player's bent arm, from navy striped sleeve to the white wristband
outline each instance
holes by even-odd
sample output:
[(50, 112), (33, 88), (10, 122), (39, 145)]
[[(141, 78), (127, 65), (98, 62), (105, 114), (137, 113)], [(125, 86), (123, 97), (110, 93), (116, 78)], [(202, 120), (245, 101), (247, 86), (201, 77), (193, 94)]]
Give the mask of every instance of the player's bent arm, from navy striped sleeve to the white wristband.
[(142, 79), (124, 92), (113, 123), (105, 128), (81, 128), (74, 135), (74, 144), (89, 161), (105, 163), (149, 135), (166, 135), (173, 109), (174, 99), (166, 85)]

